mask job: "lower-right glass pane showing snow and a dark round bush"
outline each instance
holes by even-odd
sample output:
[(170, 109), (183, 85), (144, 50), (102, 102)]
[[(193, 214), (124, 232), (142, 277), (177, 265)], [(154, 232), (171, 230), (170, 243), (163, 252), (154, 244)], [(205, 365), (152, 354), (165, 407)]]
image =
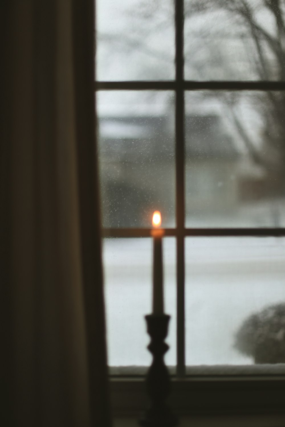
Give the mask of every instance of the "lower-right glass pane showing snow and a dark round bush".
[(285, 363), (285, 239), (186, 239), (187, 365)]

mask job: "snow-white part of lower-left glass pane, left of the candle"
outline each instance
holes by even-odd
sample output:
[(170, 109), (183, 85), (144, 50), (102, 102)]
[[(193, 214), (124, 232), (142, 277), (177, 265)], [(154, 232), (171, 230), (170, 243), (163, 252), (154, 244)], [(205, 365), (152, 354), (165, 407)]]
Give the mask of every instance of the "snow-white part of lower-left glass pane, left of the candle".
[(151, 312), (151, 239), (104, 239), (109, 366), (151, 362), (144, 316)]

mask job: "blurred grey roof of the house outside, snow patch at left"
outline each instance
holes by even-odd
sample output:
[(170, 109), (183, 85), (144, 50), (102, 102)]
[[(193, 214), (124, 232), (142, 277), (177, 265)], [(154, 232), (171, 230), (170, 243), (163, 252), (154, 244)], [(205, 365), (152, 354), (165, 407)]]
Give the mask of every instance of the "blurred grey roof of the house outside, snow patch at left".
[[(168, 117), (102, 117), (100, 149), (140, 155), (173, 155), (174, 121)], [(185, 119), (186, 155), (191, 158), (236, 158), (238, 150), (217, 115), (192, 115)], [(138, 143), (140, 146), (138, 147)]]

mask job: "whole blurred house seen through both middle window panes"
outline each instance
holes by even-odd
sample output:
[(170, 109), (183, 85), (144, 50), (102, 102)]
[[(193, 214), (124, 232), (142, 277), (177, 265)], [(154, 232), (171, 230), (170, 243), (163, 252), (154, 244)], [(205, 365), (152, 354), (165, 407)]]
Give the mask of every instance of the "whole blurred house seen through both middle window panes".
[[(235, 215), (253, 168), (217, 114), (185, 117), (186, 223)], [(105, 227), (149, 227), (152, 212), (174, 226), (174, 126), (167, 116), (101, 117), (100, 179)], [(248, 161), (247, 161), (248, 163)], [(262, 179), (264, 176), (260, 175)], [(254, 177), (254, 179), (259, 179)]]

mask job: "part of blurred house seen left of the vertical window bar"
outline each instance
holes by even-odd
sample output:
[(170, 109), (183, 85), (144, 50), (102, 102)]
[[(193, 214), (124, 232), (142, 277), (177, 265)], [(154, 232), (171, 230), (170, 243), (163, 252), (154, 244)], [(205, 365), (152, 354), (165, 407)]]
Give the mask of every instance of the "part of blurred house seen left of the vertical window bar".
[(174, 132), (166, 117), (103, 117), (99, 133), (103, 225), (149, 227), (156, 209), (174, 225)]

